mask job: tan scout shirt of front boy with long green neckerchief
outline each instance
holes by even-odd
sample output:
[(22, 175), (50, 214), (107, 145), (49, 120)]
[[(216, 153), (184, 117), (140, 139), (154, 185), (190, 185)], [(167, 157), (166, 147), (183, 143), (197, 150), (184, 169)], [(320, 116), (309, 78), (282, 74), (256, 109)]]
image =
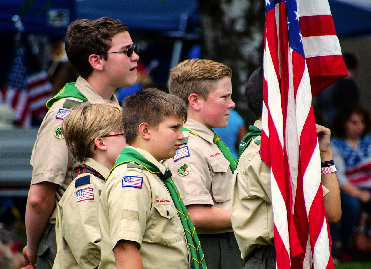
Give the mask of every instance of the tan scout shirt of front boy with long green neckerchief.
[[(150, 153), (134, 149), (165, 172), (165, 167)], [(125, 176), (142, 178), (142, 188), (122, 187)], [(99, 224), (99, 269), (116, 268), (112, 250), (119, 240), (140, 244), (145, 269), (190, 268), (187, 241), (170, 193), (157, 175), (138, 164), (121, 164), (111, 171), (99, 203)]]

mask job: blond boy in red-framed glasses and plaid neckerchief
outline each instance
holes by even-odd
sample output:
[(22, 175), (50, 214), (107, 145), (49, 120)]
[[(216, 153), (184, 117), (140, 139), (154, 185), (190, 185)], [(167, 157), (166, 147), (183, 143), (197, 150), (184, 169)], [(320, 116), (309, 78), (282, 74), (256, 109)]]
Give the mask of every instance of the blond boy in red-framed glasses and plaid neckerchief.
[(84, 102), (63, 120), (67, 147), (83, 165), (72, 170), (73, 181), (57, 206), (53, 269), (93, 269), (101, 262), (99, 196), (126, 146), (121, 111), (114, 103)]

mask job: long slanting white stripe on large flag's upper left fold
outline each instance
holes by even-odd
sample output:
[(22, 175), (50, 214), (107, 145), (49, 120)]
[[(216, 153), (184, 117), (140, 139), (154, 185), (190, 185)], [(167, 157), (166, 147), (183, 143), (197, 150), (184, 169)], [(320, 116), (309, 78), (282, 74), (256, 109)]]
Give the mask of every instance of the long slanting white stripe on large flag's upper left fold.
[(268, 88), (268, 108), (271, 112), (273, 123), (278, 133), (278, 138), (281, 144), (281, 150), (283, 152), (283, 119), (282, 119), (282, 106), (281, 106), (281, 94), (280, 87), (273, 65), (273, 60), (269, 52), (268, 44), (266, 44), (266, 67), (264, 68), (264, 76), (267, 80)]

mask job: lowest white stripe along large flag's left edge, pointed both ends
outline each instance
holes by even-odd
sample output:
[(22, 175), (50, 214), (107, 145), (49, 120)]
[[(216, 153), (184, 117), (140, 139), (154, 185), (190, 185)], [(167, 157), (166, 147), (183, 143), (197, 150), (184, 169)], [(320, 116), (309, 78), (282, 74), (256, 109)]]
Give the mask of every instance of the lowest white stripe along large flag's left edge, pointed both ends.
[(272, 188), (273, 220), (276, 225), (277, 231), (282, 239), (282, 242), (285, 245), (286, 251), (289, 255), (289, 259), (291, 260), (286, 204), (281, 195), (281, 191), (278, 188), (272, 169), (270, 170), (270, 186)]

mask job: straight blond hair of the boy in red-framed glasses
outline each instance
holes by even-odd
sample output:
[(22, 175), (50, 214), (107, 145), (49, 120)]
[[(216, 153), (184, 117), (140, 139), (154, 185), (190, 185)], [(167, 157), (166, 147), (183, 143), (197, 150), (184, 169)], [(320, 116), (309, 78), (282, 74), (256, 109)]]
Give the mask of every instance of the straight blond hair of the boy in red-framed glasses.
[(91, 157), (91, 144), (96, 137), (110, 132), (123, 132), (122, 108), (112, 102), (83, 102), (66, 116), (62, 134), (72, 156), (83, 163)]

